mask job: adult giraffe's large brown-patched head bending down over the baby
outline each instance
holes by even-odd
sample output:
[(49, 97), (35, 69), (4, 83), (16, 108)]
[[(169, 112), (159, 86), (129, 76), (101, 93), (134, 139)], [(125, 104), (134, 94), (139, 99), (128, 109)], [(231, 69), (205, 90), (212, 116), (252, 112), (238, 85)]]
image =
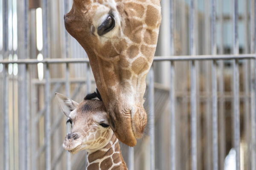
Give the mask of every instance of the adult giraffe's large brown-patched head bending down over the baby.
[(87, 52), (117, 138), (134, 146), (143, 135), (145, 77), (161, 22), (160, 0), (73, 0), (67, 31)]

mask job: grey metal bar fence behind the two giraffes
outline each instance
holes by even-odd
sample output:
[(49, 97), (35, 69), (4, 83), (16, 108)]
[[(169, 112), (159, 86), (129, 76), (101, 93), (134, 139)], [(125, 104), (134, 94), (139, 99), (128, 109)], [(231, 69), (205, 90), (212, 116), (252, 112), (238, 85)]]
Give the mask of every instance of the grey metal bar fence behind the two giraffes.
[[(14, 2), (16, 2), (17, 8), (13, 7)], [(239, 54), (238, 0), (233, 0), (233, 54), (221, 54), (217, 51), (216, 0), (211, 0), (211, 54), (197, 55), (195, 0), (190, 0), (189, 55), (178, 56), (175, 55), (174, 2), (174, 0), (169, 0), (171, 54), (166, 57), (154, 57), (154, 63), (147, 78), (145, 108), (148, 113), (148, 126), (150, 126), (146, 127), (146, 130), (149, 130), (149, 137), (138, 142), (135, 149), (121, 145), (128, 168), (130, 170), (224, 169), (225, 157), (228, 154), (225, 144), (228, 140), (227, 133), (232, 133), (231, 147), (236, 150), (236, 169), (256, 170), (256, 0), (246, 1), (250, 4), (250, 15), (245, 17), (250, 23), (250, 33), (248, 33), (251, 37), (248, 44), (250, 45), (250, 52), (248, 52), (250, 54)], [(0, 4), (3, 4), (0, 8), (0, 13), (2, 13), (0, 23), (3, 28), (2, 34), (0, 34), (3, 36), (3, 47), (0, 47), (0, 54), (3, 56), (3, 59), (0, 60), (0, 116), (2, 118), (0, 125), (3, 127), (3, 131), (0, 131), (0, 134), (4, 134), (0, 141), (1, 149), (3, 149), (0, 163), (4, 165), (4, 170), (64, 168), (70, 170), (71, 167), (73, 167), (72, 169), (84, 168), (86, 164), (85, 158), (83, 159), (84, 152), (76, 156), (70, 156), (69, 153), (64, 152), (61, 143), (66, 130), (69, 131), (69, 129), (66, 129), (64, 116), (58, 110), (58, 106), (55, 106), (56, 102), (53, 99), (55, 92), (62, 91), (73, 99), (81, 100), (86, 93), (95, 89), (89, 60), (86, 54), (78, 52), (83, 49), (64, 31), (63, 23), (55, 25), (50, 20), (54, 16), (50, 13), (53, 11), (51, 8), (56, 7), (52, 7), (52, 4), (57, 4), (57, 13), (61, 16), (68, 11), (71, 3), (68, 0), (59, 0), (58, 3), (42, 0), (42, 42), (44, 44), (42, 49), (33, 50), (37, 48), (38, 40), (35, 37), (38, 32), (33, 30), (33, 26), (29, 26), (29, 24), (36, 25), (36, 11), (29, 9), (28, 0), (0, 0)], [(162, 3), (164, 2), (162, 1)], [(10, 8), (11, 13), (9, 12)], [(17, 48), (15, 48), (15, 19), (13, 19), (15, 10), (19, 28)], [(11, 21), (9, 21), (10, 15), (12, 15)], [(60, 20), (61, 17), (56, 18)], [(222, 22), (220, 19), (218, 21)], [(11, 29), (10, 25), (12, 25)], [(56, 26), (60, 28), (59, 41), (57, 41), (59, 46), (55, 45), (57, 42), (51, 37), (52, 34), (55, 34), (52, 27)], [(12, 34), (11, 38), (10, 34)], [(37, 41), (34, 42), (34, 39)], [(12, 40), (11, 47), (10, 40)], [(60, 48), (61, 54), (58, 54), (60, 58), (54, 56), (57, 53), (51, 51), (52, 45)], [(72, 51), (72, 49), (75, 50)], [(43, 59), (36, 57), (41, 53), (44, 56)], [(12, 57), (9, 57), (10, 54)], [(18, 59), (14, 57), (15, 54)], [(167, 62), (169, 65), (167, 73), (161, 72), (169, 77), (167, 89), (159, 87), (155, 83), (159, 62)], [(178, 91), (180, 65), (184, 66), (183, 63), (186, 65), (189, 63), (189, 71), (185, 73), (189, 82), (184, 82), (188, 84), (184, 91)], [(225, 67), (226, 63), (230, 64), (232, 69)], [(208, 74), (204, 74), (200, 70), (199, 66), (202, 64), (209, 67)], [(15, 68), (18, 69), (16, 75)], [(40, 79), (39, 68), (41, 71), (43, 70), (43, 79)], [(225, 75), (227, 76), (225, 77)], [(227, 77), (230, 78), (229, 82), (225, 80)], [(205, 91), (199, 88), (201, 79), (204, 79)], [(225, 90), (225, 86), (228, 86), (227, 83), (230, 85), (230, 91)], [(159, 89), (162, 90), (161, 93)], [(166, 119), (166, 114), (163, 114), (163, 110), (160, 109), (165, 108), (163, 101), (160, 100), (164, 98), (164, 94), (168, 96), (165, 99), (168, 102), (167, 112), (169, 114), (167, 121), (169, 126), (165, 128), (168, 130), (163, 128), (160, 125), (161, 122), (158, 121), (161, 119), (159, 117)], [(225, 108), (227, 102), (232, 108)], [(161, 112), (158, 113), (159, 111)], [(183, 111), (187, 117), (186, 124), (181, 121), (182, 113), (180, 111)], [(226, 118), (228, 111), (232, 116)], [(232, 122), (231, 131), (227, 131), (225, 128), (228, 124), (227, 121), (225, 122), (227, 119)], [(241, 125), (244, 128), (240, 127)], [(185, 130), (180, 126), (189, 130), (189, 133), (185, 133), (188, 135), (185, 139), (189, 139), (186, 146), (182, 145), (184, 138), (180, 134)], [(203, 128), (206, 127), (208, 128), (206, 133), (201, 134)], [(160, 129), (166, 131), (160, 132)], [(165, 138), (168, 146), (164, 149), (168, 150), (167, 153), (158, 150), (161, 148), (160, 141), (164, 140), (164, 137), (158, 139), (159, 133), (163, 133), (163, 136), (169, 138)], [(247, 156), (241, 157), (240, 144), (242, 140), (240, 138), (245, 138), (247, 146), (245, 154)], [(205, 145), (204, 147), (202, 143)], [(182, 147), (186, 148), (184, 150), (189, 153), (189, 156), (181, 151)], [(144, 154), (138, 153), (137, 150)], [(240, 158), (244, 159), (244, 163), (241, 165)], [(141, 165), (142, 162), (143, 165)], [(163, 162), (166, 165), (159, 165)]]

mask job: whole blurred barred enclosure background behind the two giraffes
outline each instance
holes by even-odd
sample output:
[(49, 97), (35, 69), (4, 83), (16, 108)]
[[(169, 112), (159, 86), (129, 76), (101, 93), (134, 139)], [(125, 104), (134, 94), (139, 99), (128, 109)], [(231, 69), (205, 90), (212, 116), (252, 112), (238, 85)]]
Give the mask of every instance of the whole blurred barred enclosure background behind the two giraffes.
[[(87, 54), (64, 28), (72, 3), (0, 0), (0, 169), (86, 167), (86, 151), (70, 156), (62, 148), (68, 128), (54, 97), (80, 102), (96, 90)], [(120, 143), (126, 164), (130, 170), (255, 170), (255, 1), (161, 0), (161, 6), (145, 93), (148, 125), (134, 150)], [(213, 62), (215, 54), (231, 58)], [(178, 61), (187, 55), (210, 56)], [(234, 62), (232, 55), (241, 58)], [(163, 57), (169, 59), (157, 61)]]

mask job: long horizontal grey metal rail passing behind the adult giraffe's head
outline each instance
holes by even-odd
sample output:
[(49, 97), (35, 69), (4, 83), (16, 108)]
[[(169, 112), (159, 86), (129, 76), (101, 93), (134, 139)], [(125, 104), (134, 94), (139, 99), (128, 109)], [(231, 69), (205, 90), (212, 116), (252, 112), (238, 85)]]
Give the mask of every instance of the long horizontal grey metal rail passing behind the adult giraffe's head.
[[(154, 61), (192, 61), (192, 60), (231, 60), (231, 59), (256, 59), (256, 54), (229, 54), (229, 55), (192, 55), (192, 56), (155, 56)], [(37, 59), (18, 59), (9, 61), (8, 59), (0, 60), (0, 64), (56, 64), (56, 63), (89, 63), (88, 58), (49, 58), (42, 61)]]

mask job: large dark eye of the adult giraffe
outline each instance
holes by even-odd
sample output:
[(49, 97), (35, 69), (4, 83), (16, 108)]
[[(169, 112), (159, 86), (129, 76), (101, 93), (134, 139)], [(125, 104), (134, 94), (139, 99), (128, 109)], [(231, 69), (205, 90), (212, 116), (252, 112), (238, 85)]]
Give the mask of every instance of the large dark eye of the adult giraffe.
[(115, 23), (116, 22), (113, 15), (108, 15), (107, 19), (98, 28), (99, 36), (102, 36), (111, 31), (115, 27)]

